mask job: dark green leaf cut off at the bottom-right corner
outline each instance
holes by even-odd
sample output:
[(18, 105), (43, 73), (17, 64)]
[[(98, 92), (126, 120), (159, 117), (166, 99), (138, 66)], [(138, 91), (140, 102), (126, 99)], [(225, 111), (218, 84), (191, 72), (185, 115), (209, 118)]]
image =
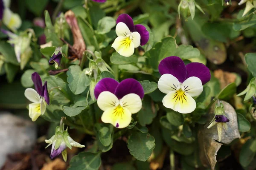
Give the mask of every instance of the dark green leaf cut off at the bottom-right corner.
[(256, 153), (256, 140), (249, 139), (242, 146), (242, 149), (239, 153), (239, 162), (243, 167), (247, 167), (250, 162), (253, 160)]

